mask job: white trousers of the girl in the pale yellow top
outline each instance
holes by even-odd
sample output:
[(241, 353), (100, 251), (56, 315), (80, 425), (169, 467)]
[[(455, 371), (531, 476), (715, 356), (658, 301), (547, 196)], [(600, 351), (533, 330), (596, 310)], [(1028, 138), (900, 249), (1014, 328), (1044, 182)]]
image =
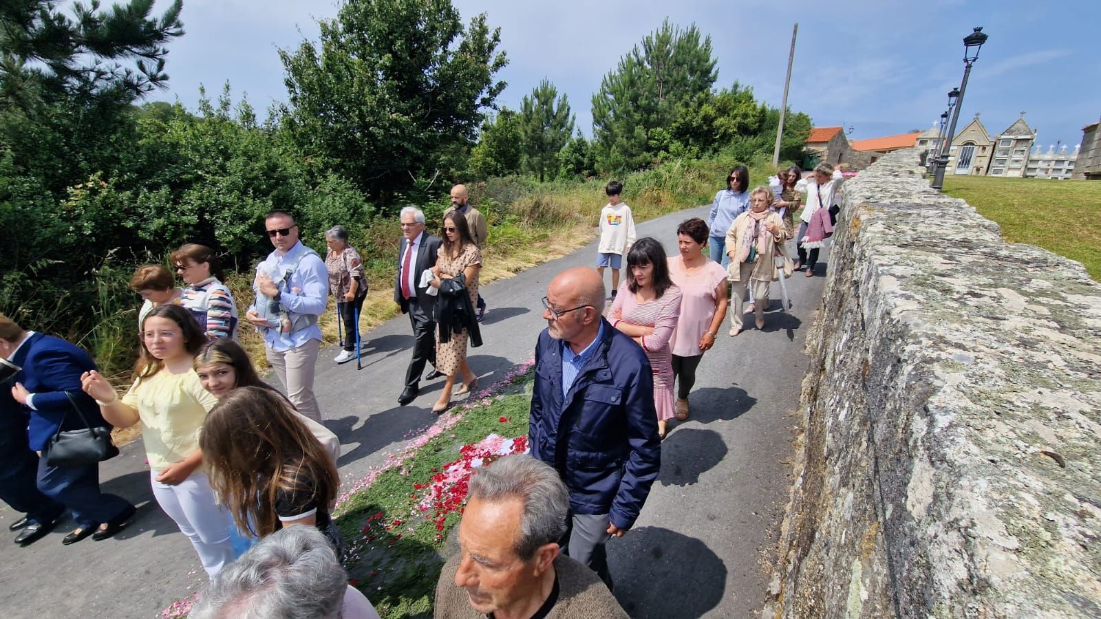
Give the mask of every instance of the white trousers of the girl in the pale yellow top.
[(176, 521), (199, 555), (203, 568), (214, 577), (233, 561), (229, 543), (229, 511), (215, 501), (214, 489), (205, 473), (193, 473), (176, 486), (156, 481), (151, 471), (153, 497), (164, 513)]

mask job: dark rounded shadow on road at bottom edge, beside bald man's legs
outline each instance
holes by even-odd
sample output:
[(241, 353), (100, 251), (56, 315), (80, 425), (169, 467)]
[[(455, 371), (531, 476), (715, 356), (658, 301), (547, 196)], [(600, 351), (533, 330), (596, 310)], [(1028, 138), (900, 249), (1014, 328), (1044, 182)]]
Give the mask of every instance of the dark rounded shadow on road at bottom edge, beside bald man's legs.
[(643, 526), (609, 541), (608, 555), (615, 598), (631, 617), (702, 617), (722, 601), (727, 566), (695, 537)]

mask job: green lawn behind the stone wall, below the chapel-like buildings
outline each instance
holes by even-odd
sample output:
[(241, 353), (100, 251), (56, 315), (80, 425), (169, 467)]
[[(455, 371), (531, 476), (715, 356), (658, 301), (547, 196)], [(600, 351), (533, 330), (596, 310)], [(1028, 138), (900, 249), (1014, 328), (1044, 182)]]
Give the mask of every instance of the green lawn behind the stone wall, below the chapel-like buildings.
[(996, 221), (1005, 240), (1077, 260), (1101, 281), (1101, 183), (946, 176), (945, 193)]

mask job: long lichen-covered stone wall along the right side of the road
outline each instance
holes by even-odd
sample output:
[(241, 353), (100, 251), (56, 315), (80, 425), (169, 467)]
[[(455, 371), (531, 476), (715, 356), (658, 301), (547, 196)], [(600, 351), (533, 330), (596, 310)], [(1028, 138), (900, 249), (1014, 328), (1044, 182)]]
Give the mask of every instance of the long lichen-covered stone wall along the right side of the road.
[(765, 617), (1101, 617), (1101, 286), (917, 164), (846, 183)]

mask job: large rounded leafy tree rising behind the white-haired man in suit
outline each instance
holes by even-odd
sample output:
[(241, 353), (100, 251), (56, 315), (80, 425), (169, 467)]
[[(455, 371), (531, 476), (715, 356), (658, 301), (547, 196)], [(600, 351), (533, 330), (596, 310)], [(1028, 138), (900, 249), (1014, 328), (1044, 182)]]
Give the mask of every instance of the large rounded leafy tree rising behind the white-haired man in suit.
[(319, 43), (280, 51), (285, 126), (305, 153), (392, 202), (473, 144), (505, 86), (500, 41), (484, 14), (464, 28), (449, 0), (347, 0)]

